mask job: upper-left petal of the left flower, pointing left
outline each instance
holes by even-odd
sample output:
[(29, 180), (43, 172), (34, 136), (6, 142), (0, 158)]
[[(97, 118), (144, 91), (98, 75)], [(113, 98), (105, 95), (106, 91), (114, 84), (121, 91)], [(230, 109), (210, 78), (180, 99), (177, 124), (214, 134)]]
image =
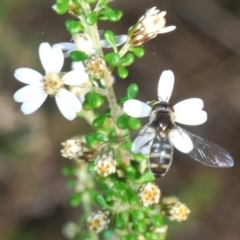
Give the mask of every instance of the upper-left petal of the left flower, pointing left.
[(43, 75), (31, 68), (18, 68), (14, 72), (14, 77), (27, 84), (38, 83), (43, 79)]

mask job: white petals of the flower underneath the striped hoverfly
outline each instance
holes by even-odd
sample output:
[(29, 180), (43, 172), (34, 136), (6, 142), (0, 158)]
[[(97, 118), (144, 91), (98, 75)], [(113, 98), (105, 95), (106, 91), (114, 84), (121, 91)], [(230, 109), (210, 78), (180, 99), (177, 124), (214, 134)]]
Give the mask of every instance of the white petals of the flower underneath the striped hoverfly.
[[(159, 78), (158, 84), (158, 99), (160, 103), (167, 104), (171, 97), (174, 85), (174, 74), (172, 71), (164, 71)], [(157, 104), (154, 106), (157, 106)], [(150, 117), (150, 122), (156, 118), (155, 110), (148, 104), (131, 99), (124, 103), (123, 110), (126, 114), (135, 118)], [(203, 101), (199, 98), (191, 98), (181, 101), (171, 107), (170, 115), (173, 128), (168, 133), (168, 138), (175, 148), (184, 153), (189, 153), (193, 149), (193, 142), (190, 137), (181, 128), (176, 127), (175, 122), (187, 125), (199, 125), (207, 120), (207, 113), (202, 110)], [(158, 109), (159, 111), (159, 109)], [(134, 140), (132, 152), (142, 154), (150, 153), (152, 140), (155, 136), (156, 130), (154, 128), (143, 128), (138, 137)]]

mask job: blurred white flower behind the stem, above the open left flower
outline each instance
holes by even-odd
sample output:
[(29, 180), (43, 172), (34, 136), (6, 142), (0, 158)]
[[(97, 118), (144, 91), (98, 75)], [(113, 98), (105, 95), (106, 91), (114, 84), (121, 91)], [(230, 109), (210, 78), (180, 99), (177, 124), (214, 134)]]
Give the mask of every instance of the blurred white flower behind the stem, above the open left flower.
[[(85, 52), (86, 54), (92, 55), (96, 51), (91, 37), (87, 33), (79, 33), (73, 36), (74, 43), (62, 42), (53, 45), (53, 48), (60, 48), (64, 52), (64, 57), (69, 57), (70, 53), (74, 50)], [(105, 40), (100, 40), (103, 48), (111, 48), (112, 46)], [(127, 35), (116, 36), (117, 46), (122, 45), (127, 41)]]

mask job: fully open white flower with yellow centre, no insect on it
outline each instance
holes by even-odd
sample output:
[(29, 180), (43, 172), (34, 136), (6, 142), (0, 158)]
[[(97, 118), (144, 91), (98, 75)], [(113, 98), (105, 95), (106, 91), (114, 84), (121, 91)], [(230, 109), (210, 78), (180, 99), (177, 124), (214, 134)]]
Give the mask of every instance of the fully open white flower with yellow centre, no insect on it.
[(49, 43), (40, 45), (39, 57), (45, 75), (30, 68), (17, 69), (14, 77), (28, 86), (18, 90), (13, 96), (14, 100), (23, 103), (21, 110), (24, 114), (31, 114), (43, 104), (48, 95), (54, 96), (63, 116), (73, 120), (76, 113), (81, 111), (82, 104), (73, 93), (63, 87), (83, 84), (88, 80), (87, 73), (82, 70), (61, 73), (63, 53), (60, 49), (51, 48)]

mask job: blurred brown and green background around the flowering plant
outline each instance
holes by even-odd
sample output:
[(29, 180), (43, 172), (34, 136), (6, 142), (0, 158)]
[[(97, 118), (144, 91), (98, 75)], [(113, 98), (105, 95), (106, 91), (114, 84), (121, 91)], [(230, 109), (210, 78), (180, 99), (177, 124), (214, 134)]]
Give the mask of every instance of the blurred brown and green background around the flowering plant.
[[(19, 67), (42, 71), (41, 42), (69, 41), (66, 16), (51, 9), (54, 1), (3, 1), (0, 8), (0, 239), (63, 240), (61, 228), (80, 209), (71, 208), (61, 168), (60, 143), (86, 133), (82, 119), (69, 122), (49, 98), (24, 116), (12, 99), (23, 84)], [(126, 33), (147, 9), (166, 10), (167, 25), (177, 29), (144, 45), (146, 54), (130, 67), (127, 80), (117, 80), (120, 97), (130, 82), (140, 86), (141, 100), (157, 99), (163, 70), (175, 73), (171, 102), (199, 97), (208, 121), (185, 129), (217, 143), (235, 159), (231, 169), (209, 168), (175, 151), (169, 173), (158, 180), (163, 195), (177, 195), (191, 209), (183, 223), (171, 223), (169, 240), (240, 239), (240, 1), (238, 0), (115, 0), (124, 11), (120, 23), (101, 28)], [(84, 130), (83, 130), (84, 129)], [(89, 128), (90, 129), (90, 128)]]

